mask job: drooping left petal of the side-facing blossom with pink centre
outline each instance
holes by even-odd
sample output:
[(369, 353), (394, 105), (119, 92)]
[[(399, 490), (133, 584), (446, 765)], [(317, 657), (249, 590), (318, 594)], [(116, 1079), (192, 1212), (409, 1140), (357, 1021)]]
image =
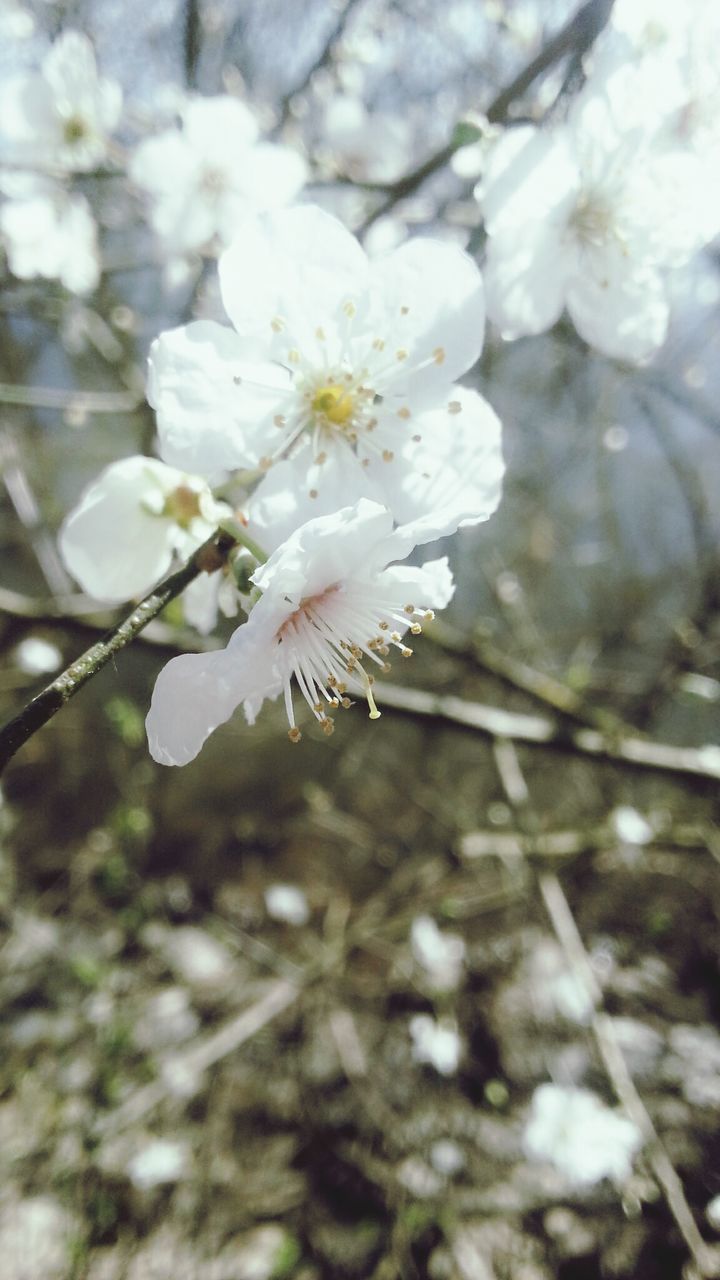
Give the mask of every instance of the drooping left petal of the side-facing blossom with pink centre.
[(258, 645), (247, 623), (236, 637), (232, 649), (173, 658), (158, 676), (145, 722), (158, 764), (188, 764), (241, 703), (256, 708), (278, 691), (270, 645)]

